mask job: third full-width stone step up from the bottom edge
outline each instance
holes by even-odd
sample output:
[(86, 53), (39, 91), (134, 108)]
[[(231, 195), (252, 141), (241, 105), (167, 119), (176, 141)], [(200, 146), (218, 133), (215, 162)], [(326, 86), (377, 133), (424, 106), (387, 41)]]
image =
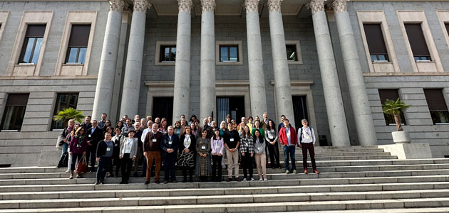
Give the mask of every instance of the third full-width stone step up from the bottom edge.
[[(71, 187), (81, 189), (72, 191)], [(133, 186), (136, 185), (125, 185)], [(286, 193), (318, 192), (387, 192), (397, 190), (448, 190), (449, 182), (383, 183), (359, 185), (319, 185), (319, 186), (264, 186), (264, 187), (212, 187), (198, 189), (160, 188), (137, 186), (129, 189), (123, 185), (68, 185), (51, 192), (1, 192), (0, 200), (45, 200), (45, 199), (84, 199), (84, 198), (120, 198), (120, 197), (174, 197), (174, 196), (209, 196), (209, 195), (262, 195)], [(173, 185), (165, 185), (172, 187)], [(110, 190), (108, 190), (110, 188)]]

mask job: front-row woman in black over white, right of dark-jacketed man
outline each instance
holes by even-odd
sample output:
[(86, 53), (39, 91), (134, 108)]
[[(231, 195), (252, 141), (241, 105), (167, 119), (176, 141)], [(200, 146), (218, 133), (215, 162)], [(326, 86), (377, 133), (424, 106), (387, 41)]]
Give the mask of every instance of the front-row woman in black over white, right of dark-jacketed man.
[(192, 134), (190, 126), (186, 126), (180, 137), (179, 158), (177, 165), (182, 168), (182, 175), (184, 179), (182, 182), (187, 182), (187, 170), (189, 170), (190, 182), (193, 182), (193, 170), (195, 169), (195, 148), (196, 138)]

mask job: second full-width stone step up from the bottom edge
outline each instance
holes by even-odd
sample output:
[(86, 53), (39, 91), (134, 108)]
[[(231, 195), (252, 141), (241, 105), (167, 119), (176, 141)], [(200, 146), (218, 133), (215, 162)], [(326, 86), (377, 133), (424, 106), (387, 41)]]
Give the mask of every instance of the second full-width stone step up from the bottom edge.
[[(159, 206), (182, 204), (237, 204), (265, 202), (321, 202), (355, 200), (390, 200), (449, 197), (449, 190), (407, 190), (388, 192), (314, 192), (261, 195), (202, 195), (158, 197), (68, 198), (49, 200), (1, 200), (0, 209), (35, 209), (66, 207)], [(449, 201), (448, 201), (449, 204)]]

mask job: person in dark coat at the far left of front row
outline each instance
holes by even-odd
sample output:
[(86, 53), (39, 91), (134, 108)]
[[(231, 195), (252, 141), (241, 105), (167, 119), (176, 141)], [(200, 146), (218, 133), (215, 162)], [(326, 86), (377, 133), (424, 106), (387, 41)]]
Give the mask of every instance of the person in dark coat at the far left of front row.
[(111, 141), (110, 133), (105, 133), (105, 139), (98, 142), (96, 154), (98, 161), (97, 170), (97, 182), (98, 184), (103, 184), (105, 180), (106, 170), (108, 170), (110, 162), (113, 157), (114, 142)]

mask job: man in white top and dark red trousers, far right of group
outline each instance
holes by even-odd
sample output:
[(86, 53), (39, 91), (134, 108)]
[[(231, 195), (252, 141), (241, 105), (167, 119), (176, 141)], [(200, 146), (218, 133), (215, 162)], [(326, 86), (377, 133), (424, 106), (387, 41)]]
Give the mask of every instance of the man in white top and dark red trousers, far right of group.
[(299, 148), (302, 149), (302, 166), (304, 167), (304, 174), (307, 174), (307, 151), (310, 154), (310, 160), (312, 163), (312, 168), (314, 169), (314, 173), (319, 174), (318, 170), (316, 170), (315, 163), (315, 133), (314, 129), (308, 126), (308, 122), (306, 119), (301, 120), (302, 127), (298, 129), (298, 143)]

